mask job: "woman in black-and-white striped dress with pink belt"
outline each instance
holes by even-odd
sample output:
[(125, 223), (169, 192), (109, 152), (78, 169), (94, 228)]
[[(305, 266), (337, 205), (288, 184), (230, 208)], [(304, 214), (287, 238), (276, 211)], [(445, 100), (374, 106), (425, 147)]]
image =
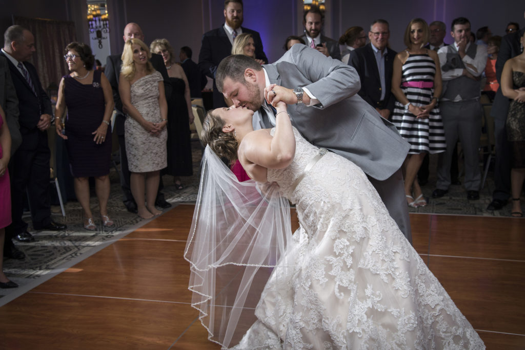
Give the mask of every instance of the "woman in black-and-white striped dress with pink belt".
[(426, 152), (444, 152), (445, 132), (437, 105), (442, 92), (439, 58), (433, 50), (423, 48), (429, 30), (421, 18), (413, 19), (405, 30), (406, 50), (394, 60), (392, 93), (397, 101), (392, 123), (411, 145), (403, 164), (408, 206), (425, 206), (417, 171)]

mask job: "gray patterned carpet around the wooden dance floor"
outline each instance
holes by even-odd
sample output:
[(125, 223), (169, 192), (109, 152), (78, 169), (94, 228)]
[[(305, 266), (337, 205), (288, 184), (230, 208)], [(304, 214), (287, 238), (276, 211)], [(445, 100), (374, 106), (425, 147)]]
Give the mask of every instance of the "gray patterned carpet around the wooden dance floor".
[[(181, 202), (195, 202), (198, 183), (200, 179), (200, 162), (202, 150), (198, 141), (193, 141), (193, 166), (192, 177), (182, 178), (185, 185), (183, 190), (176, 190), (173, 178), (164, 176), (164, 194), (167, 201), (176, 205)], [(436, 169), (437, 156), (430, 157), (430, 169)], [(491, 201), (491, 193), (494, 188), (492, 173), (489, 172), (484, 189), (480, 191), (480, 199), (468, 201), (466, 191), (463, 187), (451, 186), (449, 192), (440, 199), (428, 200), (435, 185), (435, 174), (431, 175), (428, 184), (423, 187), (428, 205), (417, 209), (410, 208), (411, 213), (434, 213), (455, 215), (482, 215), (482, 216), (510, 216), (510, 205), (503, 207), (501, 211), (487, 211), (487, 205)], [(23, 260), (7, 259), (4, 261), (4, 271), (19, 288), (0, 289), (0, 306), (13, 300), (22, 293), (38, 286), (47, 279), (59, 274), (65, 269), (75, 265), (79, 261), (95, 254), (100, 249), (110, 245), (112, 242), (142, 226), (147, 220), (142, 220), (138, 215), (131, 214), (125, 210), (122, 204), (119, 176), (115, 169), (111, 169), (111, 195), (108, 203), (108, 211), (116, 223), (112, 229), (102, 229), (97, 217), (98, 204), (95, 195), (91, 196), (91, 208), (96, 224), (97, 232), (86, 231), (82, 227), (82, 214), (78, 202), (68, 202), (66, 206), (66, 217), (62, 218), (59, 206), (53, 206), (51, 211), (53, 219), (64, 222), (68, 229), (64, 232), (31, 232), (35, 236), (33, 243), (16, 242), (18, 249), (24, 251), (26, 258)], [(463, 179), (461, 179), (463, 180)], [(169, 210), (169, 209), (168, 209)], [(30, 221), (27, 214), (25, 220)], [(29, 224), (29, 227), (31, 225)]]

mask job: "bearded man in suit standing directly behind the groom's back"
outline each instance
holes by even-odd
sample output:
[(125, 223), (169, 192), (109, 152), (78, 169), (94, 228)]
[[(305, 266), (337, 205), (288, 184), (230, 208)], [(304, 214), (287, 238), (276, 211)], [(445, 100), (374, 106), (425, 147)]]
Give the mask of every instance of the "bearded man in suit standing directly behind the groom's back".
[(341, 60), (339, 43), (321, 34), (324, 19), (319, 7), (312, 6), (304, 13), (302, 24), (304, 25), (304, 35), (301, 37), (306, 46), (316, 49), (326, 57)]

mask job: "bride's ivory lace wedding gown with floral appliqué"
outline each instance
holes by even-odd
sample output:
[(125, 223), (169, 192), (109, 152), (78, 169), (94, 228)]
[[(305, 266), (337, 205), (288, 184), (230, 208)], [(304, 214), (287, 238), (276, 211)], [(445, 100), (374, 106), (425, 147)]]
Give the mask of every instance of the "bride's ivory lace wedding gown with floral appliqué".
[(359, 167), (329, 152), (292, 188), (319, 152), (294, 133), (295, 159), (268, 181), (296, 203), (297, 266), (274, 270), (235, 348), (485, 348)]

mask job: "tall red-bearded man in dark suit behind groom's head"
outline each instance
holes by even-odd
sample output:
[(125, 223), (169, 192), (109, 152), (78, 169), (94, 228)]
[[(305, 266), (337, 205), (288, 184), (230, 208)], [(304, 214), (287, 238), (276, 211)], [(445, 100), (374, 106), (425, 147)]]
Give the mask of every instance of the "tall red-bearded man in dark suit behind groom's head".
[(249, 33), (254, 38), (255, 58), (268, 63), (268, 58), (262, 50), (262, 41), (258, 32), (245, 27), (243, 24), (242, 0), (226, 0), (224, 2), (224, 25), (204, 33), (201, 52), (198, 55), (198, 67), (213, 79), (213, 107), (226, 107), (224, 96), (215, 85), (215, 71), (223, 58), (232, 54), (234, 38), (241, 33)]

